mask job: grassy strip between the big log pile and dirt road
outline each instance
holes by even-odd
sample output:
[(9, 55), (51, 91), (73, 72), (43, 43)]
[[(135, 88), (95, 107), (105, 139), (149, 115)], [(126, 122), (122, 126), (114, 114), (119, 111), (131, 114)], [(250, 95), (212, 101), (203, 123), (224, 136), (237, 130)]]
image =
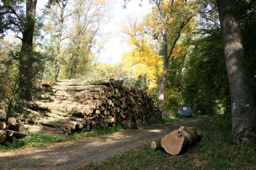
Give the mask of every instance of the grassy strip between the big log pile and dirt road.
[[(165, 123), (165, 122), (177, 122), (180, 120), (184, 120), (187, 118), (161, 118), (159, 120), (148, 119), (144, 125), (153, 125), (156, 123)], [(58, 143), (58, 142), (68, 142), (77, 139), (84, 139), (87, 137), (98, 137), (109, 133), (114, 133), (122, 129), (127, 129), (126, 126), (112, 126), (112, 127), (99, 127), (93, 128), (89, 132), (88, 131), (81, 131), (75, 132), (69, 135), (68, 137), (61, 137), (61, 136), (50, 136), (50, 135), (30, 135), (31, 138), (27, 140), (18, 140), (11, 144), (9, 147), (0, 145), (0, 151), (8, 151), (13, 149), (23, 149), (26, 147), (42, 147), (46, 144)]]

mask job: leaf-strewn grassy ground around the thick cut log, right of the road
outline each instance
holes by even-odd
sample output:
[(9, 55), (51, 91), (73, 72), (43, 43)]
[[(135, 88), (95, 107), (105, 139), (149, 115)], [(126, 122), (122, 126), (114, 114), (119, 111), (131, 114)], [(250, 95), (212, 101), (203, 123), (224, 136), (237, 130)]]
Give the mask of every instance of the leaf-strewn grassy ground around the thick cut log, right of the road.
[(235, 147), (230, 144), (231, 118), (222, 115), (204, 119), (196, 125), (202, 141), (181, 155), (152, 150), (150, 143), (136, 147), (107, 161), (84, 164), (77, 170), (255, 170), (256, 145)]

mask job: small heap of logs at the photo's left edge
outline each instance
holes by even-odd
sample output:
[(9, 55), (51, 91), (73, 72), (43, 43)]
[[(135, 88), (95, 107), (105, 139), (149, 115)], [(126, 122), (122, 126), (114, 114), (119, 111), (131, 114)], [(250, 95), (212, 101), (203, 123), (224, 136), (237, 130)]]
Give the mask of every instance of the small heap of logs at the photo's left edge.
[(24, 125), (17, 123), (14, 117), (6, 119), (6, 112), (0, 109), (0, 144), (10, 146), (17, 139), (26, 137), (21, 133), (24, 131)]

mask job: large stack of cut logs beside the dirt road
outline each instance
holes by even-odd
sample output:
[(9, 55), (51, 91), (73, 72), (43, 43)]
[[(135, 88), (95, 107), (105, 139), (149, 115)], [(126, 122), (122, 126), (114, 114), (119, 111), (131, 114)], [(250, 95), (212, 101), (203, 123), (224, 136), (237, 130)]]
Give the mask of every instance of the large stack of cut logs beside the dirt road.
[[(46, 94), (17, 113), (31, 133), (51, 133), (67, 136), (91, 127), (128, 125), (162, 116), (157, 102), (145, 90), (123, 87), (123, 80), (61, 80), (43, 84)], [(53, 128), (54, 127), (54, 128)]]

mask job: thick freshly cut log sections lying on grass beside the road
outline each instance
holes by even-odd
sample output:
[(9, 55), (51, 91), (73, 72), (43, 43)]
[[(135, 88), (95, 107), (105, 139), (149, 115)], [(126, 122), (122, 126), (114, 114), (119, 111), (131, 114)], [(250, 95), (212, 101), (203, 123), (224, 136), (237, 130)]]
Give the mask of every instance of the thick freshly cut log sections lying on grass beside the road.
[(163, 148), (170, 155), (177, 155), (182, 153), (186, 148), (193, 147), (200, 142), (201, 138), (200, 129), (181, 126), (163, 138), (151, 141), (151, 147), (153, 150)]

